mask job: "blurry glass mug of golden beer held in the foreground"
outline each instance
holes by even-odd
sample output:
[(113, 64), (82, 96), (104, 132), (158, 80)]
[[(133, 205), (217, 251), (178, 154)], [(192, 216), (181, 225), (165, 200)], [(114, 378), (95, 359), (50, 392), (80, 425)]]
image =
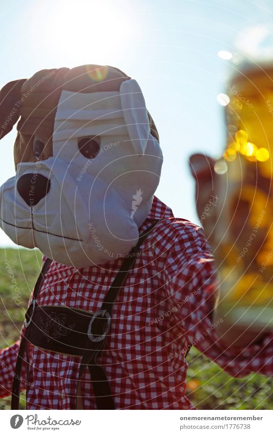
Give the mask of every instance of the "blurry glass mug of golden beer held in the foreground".
[(228, 320), (258, 332), (273, 328), (273, 63), (245, 66), (226, 87), (213, 248)]

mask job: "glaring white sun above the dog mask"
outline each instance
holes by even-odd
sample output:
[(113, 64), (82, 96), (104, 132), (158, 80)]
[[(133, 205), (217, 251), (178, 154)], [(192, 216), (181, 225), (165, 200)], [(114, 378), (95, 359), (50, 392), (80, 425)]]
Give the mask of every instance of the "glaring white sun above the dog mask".
[[(44, 45), (50, 46), (52, 54), (57, 53), (59, 61), (68, 67), (105, 64), (113, 53), (115, 58), (121, 57), (130, 44), (130, 6), (123, 11), (114, 2), (87, 0), (48, 2), (43, 10), (41, 5), (37, 5), (39, 14), (50, 22), (50, 29), (45, 29)], [(39, 33), (44, 34), (43, 23), (39, 23)]]

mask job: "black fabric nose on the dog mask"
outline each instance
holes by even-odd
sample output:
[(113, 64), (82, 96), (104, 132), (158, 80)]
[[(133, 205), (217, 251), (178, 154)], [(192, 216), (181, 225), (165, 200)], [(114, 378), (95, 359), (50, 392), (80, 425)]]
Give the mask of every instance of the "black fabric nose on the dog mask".
[(29, 205), (36, 205), (50, 190), (50, 180), (41, 174), (22, 175), (16, 184), (17, 191)]

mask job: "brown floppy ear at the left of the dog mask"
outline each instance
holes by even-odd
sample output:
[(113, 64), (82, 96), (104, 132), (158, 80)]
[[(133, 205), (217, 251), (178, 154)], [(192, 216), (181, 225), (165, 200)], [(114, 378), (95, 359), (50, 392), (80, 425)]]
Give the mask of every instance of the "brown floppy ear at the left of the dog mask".
[(0, 139), (12, 130), (20, 116), (18, 102), (21, 103), (21, 87), (26, 80), (10, 81), (0, 91)]

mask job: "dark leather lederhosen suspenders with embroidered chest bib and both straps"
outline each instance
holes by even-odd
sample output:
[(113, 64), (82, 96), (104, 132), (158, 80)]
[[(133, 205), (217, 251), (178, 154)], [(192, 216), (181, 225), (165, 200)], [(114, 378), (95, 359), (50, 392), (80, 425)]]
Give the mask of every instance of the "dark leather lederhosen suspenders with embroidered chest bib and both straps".
[(19, 409), (20, 373), (27, 343), (59, 354), (82, 356), (79, 368), (76, 409), (83, 409), (81, 401), (81, 377), (86, 366), (89, 368), (97, 409), (115, 409), (110, 386), (103, 368), (96, 362), (97, 356), (106, 343), (111, 326), (111, 311), (120, 287), (130, 272), (130, 267), (141, 252), (140, 246), (154, 229), (154, 221), (138, 239), (129, 256), (123, 261), (100, 310), (90, 313), (66, 306), (38, 306), (37, 296), (48, 270), (51, 259), (47, 259), (33, 291), (32, 301), (26, 312), (26, 332), (22, 337), (15, 366), (12, 385), (11, 409)]

